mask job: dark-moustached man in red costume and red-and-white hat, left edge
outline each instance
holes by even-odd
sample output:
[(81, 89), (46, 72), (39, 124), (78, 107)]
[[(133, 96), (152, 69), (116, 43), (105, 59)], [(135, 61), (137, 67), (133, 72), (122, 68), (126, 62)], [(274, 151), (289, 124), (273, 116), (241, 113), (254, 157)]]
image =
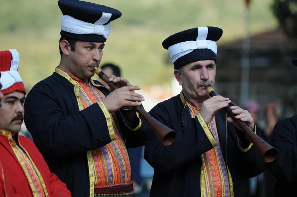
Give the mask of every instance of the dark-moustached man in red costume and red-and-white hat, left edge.
[[(35, 144), (18, 135), (26, 94), (18, 64), (17, 50), (0, 52), (0, 83), (4, 94), (0, 108), (0, 175), (3, 169), (5, 173), (5, 178), (2, 173), (0, 179), (0, 184), (4, 185), (1, 188), (8, 189), (6, 183), (12, 184), (17, 197), (71, 197), (66, 185), (50, 172)], [(7, 191), (3, 193), (8, 197)]]

